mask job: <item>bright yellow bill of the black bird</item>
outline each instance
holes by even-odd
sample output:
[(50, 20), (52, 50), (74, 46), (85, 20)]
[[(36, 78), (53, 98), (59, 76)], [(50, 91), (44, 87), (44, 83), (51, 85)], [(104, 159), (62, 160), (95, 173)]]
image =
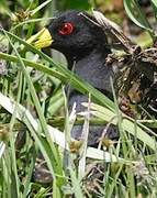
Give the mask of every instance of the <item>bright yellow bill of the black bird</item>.
[(35, 35), (31, 36), (26, 42), (33, 44), (36, 48), (45, 48), (52, 45), (53, 37), (48, 29), (44, 28)]

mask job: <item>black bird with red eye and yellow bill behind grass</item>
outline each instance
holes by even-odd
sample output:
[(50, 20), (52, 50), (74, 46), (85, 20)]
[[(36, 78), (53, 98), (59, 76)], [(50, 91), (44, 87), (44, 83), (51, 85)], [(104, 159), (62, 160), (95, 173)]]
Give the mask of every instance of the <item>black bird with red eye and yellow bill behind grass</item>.
[[(94, 22), (96, 19), (85, 11), (66, 11), (53, 19), (35, 45), (41, 48), (51, 47), (63, 53), (70, 70), (112, 98), (110, 78), (114, 79), (114, 70), (106, 66), (105, 61), (111, 54), (111, 48), (104, 30)], [(76, 112), (85, 111), (81, 102), (87, 101), (88, 96), (69, 88), (69, 110), (76, 102)], [(104, 125), (90, 125), (88, 145), (96, 145), (103, 130)], [(82, 125), (74, 127), (71, 136), (80, 140), (81, 131)], [(117, 131), (112, 127), (108, 129), (106, 134), (110, 139), (117, 138)]]

